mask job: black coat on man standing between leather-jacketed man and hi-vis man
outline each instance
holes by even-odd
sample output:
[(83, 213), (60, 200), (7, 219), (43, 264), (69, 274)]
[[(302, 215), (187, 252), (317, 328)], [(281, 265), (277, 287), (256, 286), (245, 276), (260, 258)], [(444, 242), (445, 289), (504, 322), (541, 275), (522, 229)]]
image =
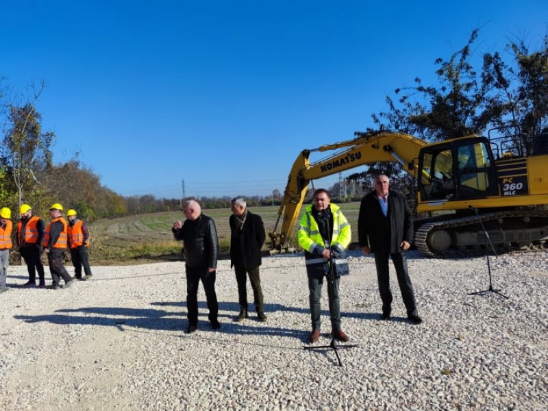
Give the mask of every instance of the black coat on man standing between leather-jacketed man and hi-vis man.
[[(257, 214), (247, 210), (244, 227), (238, 231), (236, 216), (232, 214), (230, 225), (230, 266), (242, 263), (246, 270), (252, 270), (261, 265), (261, 248), (266, 234), (262, 219)], [(238, 255), (240, 253), (240, 255)]]

